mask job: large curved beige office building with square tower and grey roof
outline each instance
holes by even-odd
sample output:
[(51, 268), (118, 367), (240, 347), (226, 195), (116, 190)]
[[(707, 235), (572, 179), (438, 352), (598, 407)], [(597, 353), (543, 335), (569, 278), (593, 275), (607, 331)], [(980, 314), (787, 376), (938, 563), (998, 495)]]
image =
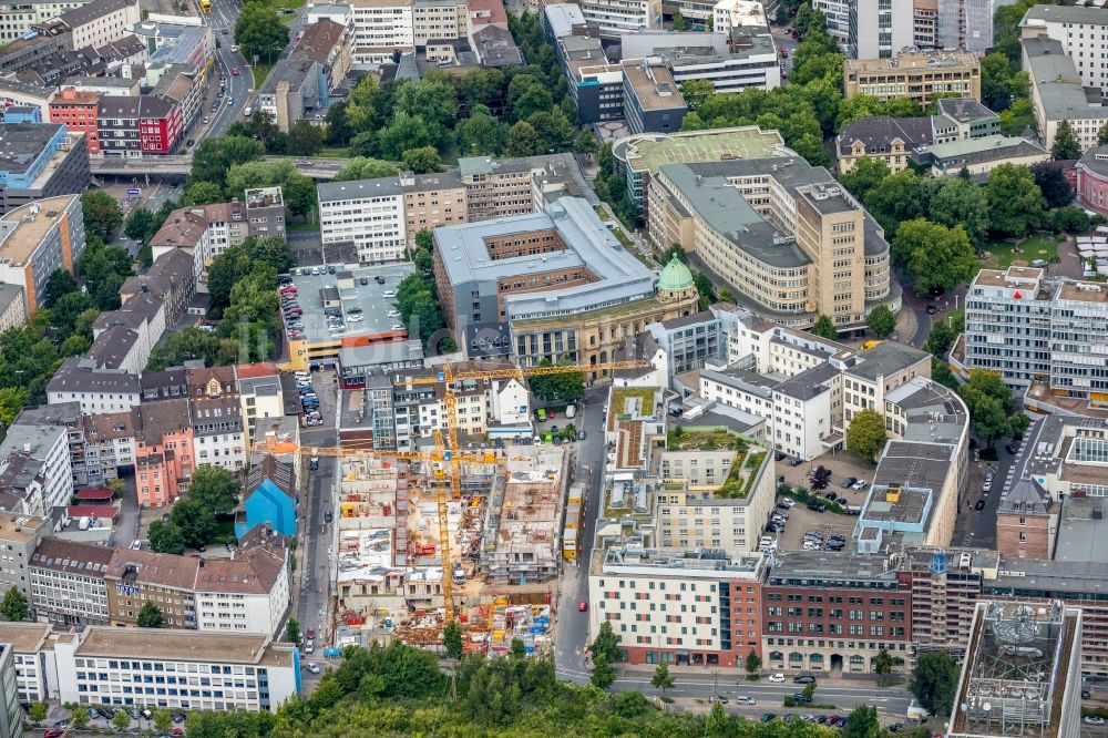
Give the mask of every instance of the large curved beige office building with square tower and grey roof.
[(900, 309), (881, 227), (799, 156), (665, 164), (647, 203), (655, 249), (680, 244), (767, 320), (803, 328), (828, 315), (850, 330), (878, 305)]

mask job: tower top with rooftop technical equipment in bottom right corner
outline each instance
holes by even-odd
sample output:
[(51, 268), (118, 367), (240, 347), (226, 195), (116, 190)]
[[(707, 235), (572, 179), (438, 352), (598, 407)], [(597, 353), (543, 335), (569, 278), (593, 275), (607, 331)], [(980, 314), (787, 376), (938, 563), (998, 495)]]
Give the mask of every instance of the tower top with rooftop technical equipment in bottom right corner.
[(1077, 738), (1080, 643), (1061, 601), (978, 603), (946, 735)]

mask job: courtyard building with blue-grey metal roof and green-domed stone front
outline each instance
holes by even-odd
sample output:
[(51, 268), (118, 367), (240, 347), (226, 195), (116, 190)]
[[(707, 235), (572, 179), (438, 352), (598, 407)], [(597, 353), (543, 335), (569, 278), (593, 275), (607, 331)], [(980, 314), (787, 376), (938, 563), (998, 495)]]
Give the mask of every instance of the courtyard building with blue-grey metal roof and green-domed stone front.
[[(656, 285), (578, 197), (534, 215), (438, 228), (434, 238), (443, 314), (470, 358), (514, 351), (524, 366), (562, 356), (604, 363), (636, 324), (691, 312), (696, 303), (684, 265), (667, 265)], [(490, 336), (510, 340), (490, 348)]]

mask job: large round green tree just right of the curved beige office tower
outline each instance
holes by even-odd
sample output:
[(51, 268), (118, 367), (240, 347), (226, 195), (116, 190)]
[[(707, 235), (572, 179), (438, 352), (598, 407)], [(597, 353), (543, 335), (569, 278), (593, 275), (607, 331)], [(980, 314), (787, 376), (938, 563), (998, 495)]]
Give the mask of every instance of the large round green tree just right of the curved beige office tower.
[(892, 243), (893, 262), (920, 295), (953, 289), (977, 271), (977, 258), (962, 226), (923, 218), (905, 221)]

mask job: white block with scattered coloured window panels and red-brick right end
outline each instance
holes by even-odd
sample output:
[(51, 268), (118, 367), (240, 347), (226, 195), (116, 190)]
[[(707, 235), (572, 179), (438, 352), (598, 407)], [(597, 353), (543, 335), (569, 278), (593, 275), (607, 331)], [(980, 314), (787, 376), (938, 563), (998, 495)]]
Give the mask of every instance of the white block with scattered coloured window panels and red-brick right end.
[(589, 633), (609, 622), (632, 664), (741, 666), (760, 650), (765, 566), (719, 550), (596, 550)]

